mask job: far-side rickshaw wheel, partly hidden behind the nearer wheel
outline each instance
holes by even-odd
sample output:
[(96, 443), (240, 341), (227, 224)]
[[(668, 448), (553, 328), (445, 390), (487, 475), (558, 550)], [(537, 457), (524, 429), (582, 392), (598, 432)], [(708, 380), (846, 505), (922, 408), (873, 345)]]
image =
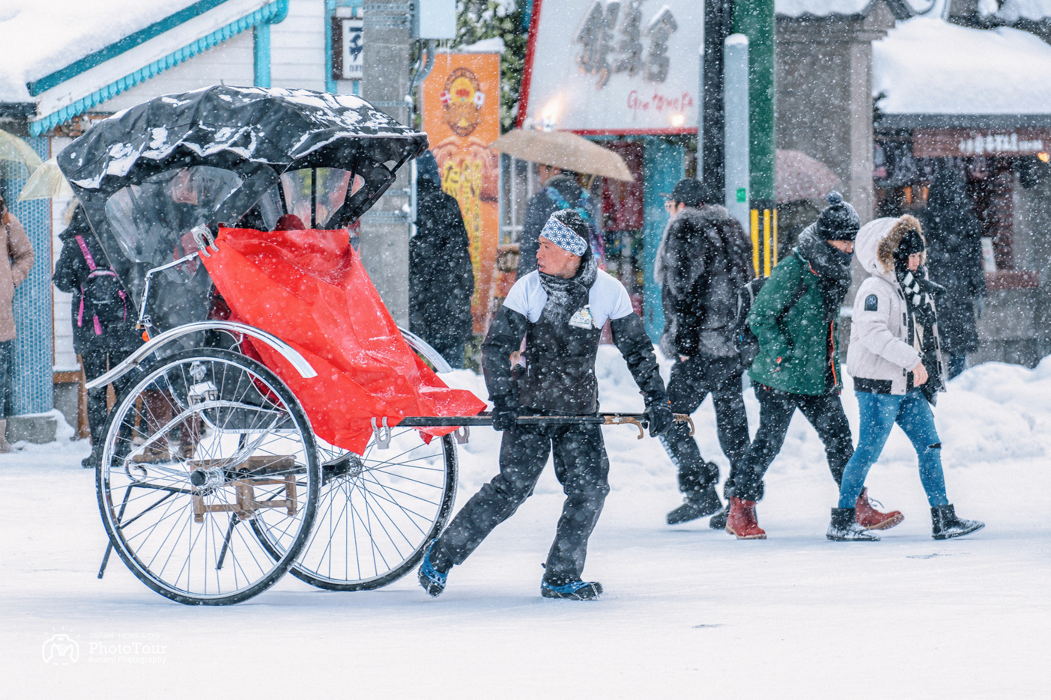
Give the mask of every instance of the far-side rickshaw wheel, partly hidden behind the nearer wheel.
[(452, 436), (426, 444), (414, 428), (395, 427), (385, 450), (373, 437), (360, 457), (321, 440), (318, 452), (317, 517), (290, 573), (329, 591), (368, 591), (412, 571), (456, 500)]

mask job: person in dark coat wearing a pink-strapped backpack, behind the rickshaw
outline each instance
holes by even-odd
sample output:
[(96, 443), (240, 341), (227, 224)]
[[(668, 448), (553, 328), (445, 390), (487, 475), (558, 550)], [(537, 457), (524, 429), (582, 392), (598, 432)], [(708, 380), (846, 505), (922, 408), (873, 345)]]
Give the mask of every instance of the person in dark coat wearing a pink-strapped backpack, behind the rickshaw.
[[(55, 263), (55, 285), (73, 293), (73, 346), (80, 355), (87, 381), (106, 374), (142, 344), (135, 322), (135, 303), (109, 269), (105, 252), (95, 238), (82, 207), (59, 234), (62, 254)], [(114, 382), (121, 391), (133, 374)], [(95, 468), (102, 459), (106, 427), (106, 387), (87, 393), (87, 423), (91, 428), (91, 454), (81, 463)]]

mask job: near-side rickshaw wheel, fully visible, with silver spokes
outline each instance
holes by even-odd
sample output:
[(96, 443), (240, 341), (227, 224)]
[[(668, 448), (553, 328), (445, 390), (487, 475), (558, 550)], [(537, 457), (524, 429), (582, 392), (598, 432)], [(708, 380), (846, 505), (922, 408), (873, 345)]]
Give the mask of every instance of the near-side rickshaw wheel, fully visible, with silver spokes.
[[(231, 604), (272, 586), (306, 544), (321, 487), (292, 393), (259, 362), (214, 348), (139, 370), (110, 411), (96, 474), (117, 553), (186, 604)], [(282, 544), (279, 555), (252, 534), (261, 530)]]

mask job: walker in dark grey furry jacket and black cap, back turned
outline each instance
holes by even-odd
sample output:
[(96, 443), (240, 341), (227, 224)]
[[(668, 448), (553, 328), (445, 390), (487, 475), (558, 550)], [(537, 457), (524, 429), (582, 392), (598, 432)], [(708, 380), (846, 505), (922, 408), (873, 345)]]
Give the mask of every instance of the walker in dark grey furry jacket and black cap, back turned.
[[(748, 419), (741, 394), (744, 369), (735, 327), (736, 293), (751, 276), (744, 229), (718, 193), (693, 177), (679, 181), (666, 198), (672, 215), (654, 264), (661, 289), (664, 333), (661, 351), (676, 360), (667, 385), (672, 410), (693, 413), (710, 394), (719, 445), (731, 466), (748, 448)], [(719, 466), (701, 458), (689, 428), (676, 424), (661, 443), (679, 469), (684, 503), (667, 524), (687, 523), (722, 510), (716, 492)], [(713, 527), (721, 528), (720, 518)]]

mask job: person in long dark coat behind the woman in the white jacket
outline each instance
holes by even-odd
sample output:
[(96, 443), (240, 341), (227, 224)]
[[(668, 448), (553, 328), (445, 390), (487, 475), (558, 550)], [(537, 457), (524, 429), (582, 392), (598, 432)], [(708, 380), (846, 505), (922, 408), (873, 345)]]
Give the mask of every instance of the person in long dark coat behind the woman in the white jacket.
[(963, 174), (951, 167), (939, 170), (918, 218), (927, 237), (930, 278), (946, 290), (937, 299), (937, 330), (952, 379), (964, 370), (967, 354), (978, 348), (974, 310), (981, 313), (986, 295), (982, 224)]

